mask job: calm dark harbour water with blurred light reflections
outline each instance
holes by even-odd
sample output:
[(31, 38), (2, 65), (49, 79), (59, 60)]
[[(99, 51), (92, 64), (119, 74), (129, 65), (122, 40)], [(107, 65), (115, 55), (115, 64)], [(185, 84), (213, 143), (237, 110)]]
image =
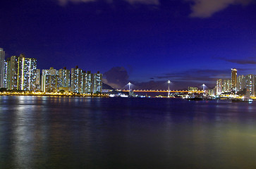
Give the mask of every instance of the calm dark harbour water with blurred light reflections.
[(256, 168), (256, 101), (0, 96), (0, 168)]

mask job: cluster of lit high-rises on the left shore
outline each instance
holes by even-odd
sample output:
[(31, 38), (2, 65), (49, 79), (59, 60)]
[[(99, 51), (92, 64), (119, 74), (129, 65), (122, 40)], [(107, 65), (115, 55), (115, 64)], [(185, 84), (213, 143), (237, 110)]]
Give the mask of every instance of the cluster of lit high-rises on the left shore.
[(74, 94), (101, 94), (102, 74), (85, 71), (78, 66), (67, 70), (54, 68), (37, 69), (37, 58), (24, 54), (4, 59), (5, 51), (0, 48), (0, 77), (2, 91), (26, 92), (72, 92)]

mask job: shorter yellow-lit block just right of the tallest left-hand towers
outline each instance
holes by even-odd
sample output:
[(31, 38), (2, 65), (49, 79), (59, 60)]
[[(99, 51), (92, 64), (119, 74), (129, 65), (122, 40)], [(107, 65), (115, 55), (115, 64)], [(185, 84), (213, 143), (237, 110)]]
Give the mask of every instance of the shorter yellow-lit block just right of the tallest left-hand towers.
[(57, 71), (54, 68), (49, 70), (42, 70), (41, 76), (41, 90), (42, 92), (59, 92), (60, 78), (56, 74)]

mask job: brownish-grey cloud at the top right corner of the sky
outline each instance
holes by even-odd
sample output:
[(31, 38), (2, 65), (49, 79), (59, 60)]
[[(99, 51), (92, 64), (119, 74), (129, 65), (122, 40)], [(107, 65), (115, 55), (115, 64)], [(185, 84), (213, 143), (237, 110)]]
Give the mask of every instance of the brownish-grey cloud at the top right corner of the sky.
[(230, 5), (248, 5), (253, 0), (188, 0), (193, 1), (190, 17), (209, 18)]

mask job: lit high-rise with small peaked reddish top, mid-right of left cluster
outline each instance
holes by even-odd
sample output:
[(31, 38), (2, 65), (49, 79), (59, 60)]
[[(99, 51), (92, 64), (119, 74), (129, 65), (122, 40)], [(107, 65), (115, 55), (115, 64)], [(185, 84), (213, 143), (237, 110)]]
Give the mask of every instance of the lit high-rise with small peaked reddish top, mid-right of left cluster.
[(83, 70), (78, 68), (71, 68), (71, 92), (83, 93)]

